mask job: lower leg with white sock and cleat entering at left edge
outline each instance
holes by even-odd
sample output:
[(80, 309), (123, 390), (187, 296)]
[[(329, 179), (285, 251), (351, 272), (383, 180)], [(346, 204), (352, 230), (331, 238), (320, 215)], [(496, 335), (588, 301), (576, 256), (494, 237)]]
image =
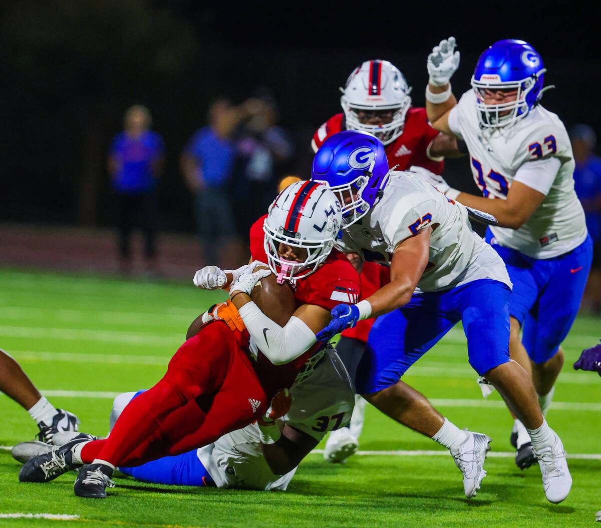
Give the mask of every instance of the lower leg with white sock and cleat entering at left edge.
[(14, 399), (34, 419), (40, 429), (36, 436), (41, 442), (52, 442), (52, 437), (59, 431), (78, 430), (78, 417), (54, 408), (35, 388), (19, 363), (4, 350), (0, 350), (0, 391)]

